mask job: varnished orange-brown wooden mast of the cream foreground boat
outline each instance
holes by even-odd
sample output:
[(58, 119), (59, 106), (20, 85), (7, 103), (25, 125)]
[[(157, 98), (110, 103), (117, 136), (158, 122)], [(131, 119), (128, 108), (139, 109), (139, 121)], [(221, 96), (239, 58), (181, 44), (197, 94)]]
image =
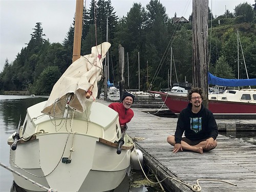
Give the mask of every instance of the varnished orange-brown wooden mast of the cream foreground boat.
[(76, 0), (74, 45), (73, 45), (72, 62), (79, 59), (80, 55), (81, 55), (82, 15), (83, 15), (83, 0)]

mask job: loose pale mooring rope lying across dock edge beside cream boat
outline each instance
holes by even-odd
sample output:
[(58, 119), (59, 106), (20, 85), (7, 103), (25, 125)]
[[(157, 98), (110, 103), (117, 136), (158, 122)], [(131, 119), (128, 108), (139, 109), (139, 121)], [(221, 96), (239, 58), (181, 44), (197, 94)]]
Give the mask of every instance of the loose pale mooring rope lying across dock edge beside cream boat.
[[(136, 152), (136, 150), (137, 150), (135, 144), (134, 144), (134, 150), (135, 150), (135, 152)], [(151, 182), (151, 183), (153, 183), (153, 184), (159, 184), (159, 183), (163, 182), (165, 179), (168, 178), (168, 179), (170, 179), (170, 180), (175, 180), (175, 181), (177, 181), (177, 182), (179, 182), (179, 183), (182, 183), (182, 184), (186, 185), (187, 187), (189, 187), (191, 190), (196, 191), (196, 192), (199, 192), (199, 191), (201, 191), (201, 189), (202, 189), (201, 186), (199, 185), (199, 181), (218, 181), (218, 182), (224, 182), (224, 183), (228, 183), (228, 184), (230, 184), (230, 185), (237, 186), (237, 184), (230, 183), (230, 182), (225, 181), (225, 180), (219, 180), (219, 179), (198, 179), (198, 180), (197, 180), (197, 184), (194, 184), (194, 185), (189, 185), (189, 184), (184, 183), (184, 182), (182, 182), (181, 180), (178, 180), (178, 179), (176, 179), (176, 178), (174, 178), (174, 177), (165, 177), (165, 178), (164, 178), (163, 180), (161, 180), (161, 181), (152, 182), (150, 179), (147, 178), (147, 176), (146, 176), (146, 174), (145, 174), (145, 172), (144, 172), (144, 170), (143, 170), (143, 168), (142, 168), (142, 165), (141, 165), (141, 163), (140, 163), (139, 156), (138, 156), (137, 153), (136, 153), (136, 155), (137, 155), (137, 158), (138, 158), (138, 161), (139, 161), (139, 164), (140, 164), (140, 167), (141, 167), (141, 170), (142, 170), (144, 176), (146, 177), (146, 179), (147, 179), (149, 182)]]

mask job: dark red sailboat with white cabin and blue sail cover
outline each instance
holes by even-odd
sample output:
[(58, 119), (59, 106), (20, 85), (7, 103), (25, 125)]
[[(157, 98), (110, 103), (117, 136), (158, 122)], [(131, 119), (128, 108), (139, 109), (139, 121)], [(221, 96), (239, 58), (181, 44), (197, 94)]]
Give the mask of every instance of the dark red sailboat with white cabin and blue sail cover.
[[(195, 6), (196, 7), (196, 6)], [(204, 7), (206, 8), (206, 6)], [(203, 11), (202, 11), (203, 12)], [(204, 12), (205, 13), (205, 12)], [(195, 15), (195, 14), (194, 14)], [(202, 25), (206, 27), (206, 25)], [(197, 29), (197, 28), (194, 28)], [(206, 31), (206, 30), (202, 30)], [(207, 39), (207, 38), (205, 38)], [(239, 54), (238, 54), (239, 55)], [(239, 58), (238, 58), (239, 61)], [(239, 62), (238, 62), (239, 63)], [(239, 70), (238, 70), (239, 71)], [(218, 86), (256, 86), (256, 79), (223, 79), (211, 75), (209, 72), (205, 74), (208, 84)], [(206, 82), (207, 84), (207, 82)], [(179, 115), (179, 113), (187, 107), (188, 99), (184, 96), (169, 95), (162, 92), (152, 93), (160, 94), (162, 100), (170, 111)], [(215, 115), (221, 117), (232, 118), (255, 118), (256, 117), (256, 89), (226, 90), (222, 94), (208, 95), (208, 109)]]

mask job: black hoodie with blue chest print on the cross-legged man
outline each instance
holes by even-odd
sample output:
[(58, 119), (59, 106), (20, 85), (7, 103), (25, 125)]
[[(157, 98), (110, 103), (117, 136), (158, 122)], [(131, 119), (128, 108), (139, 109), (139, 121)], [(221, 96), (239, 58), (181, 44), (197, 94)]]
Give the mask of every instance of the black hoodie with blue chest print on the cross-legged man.
[[(185, 133), (184, 133), (185, 132)], [(182, 135), (190, 140), (214, 138), (218, 136), (218, 126), (214, 115), (203, 104), (198, 113), (192, 112), (192, 104), (180, 112), (175, 132), (175, 142), (180, 143)]]

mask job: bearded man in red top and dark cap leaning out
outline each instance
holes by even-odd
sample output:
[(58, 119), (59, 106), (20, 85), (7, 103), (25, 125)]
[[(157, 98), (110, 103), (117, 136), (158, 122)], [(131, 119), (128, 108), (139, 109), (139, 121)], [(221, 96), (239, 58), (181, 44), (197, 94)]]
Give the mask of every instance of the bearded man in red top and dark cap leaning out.
[(121, 126), (121, 132), (125, 132), (127, 129), (126, 123), (129, 123), (134, 116), (134, 112), (131, 106), (134, 102), (134, 95), (125, 92), (122, 96), (121, 102), (111, 103), (109, 107), (115, 110), (119, 115), (119, 123)]

